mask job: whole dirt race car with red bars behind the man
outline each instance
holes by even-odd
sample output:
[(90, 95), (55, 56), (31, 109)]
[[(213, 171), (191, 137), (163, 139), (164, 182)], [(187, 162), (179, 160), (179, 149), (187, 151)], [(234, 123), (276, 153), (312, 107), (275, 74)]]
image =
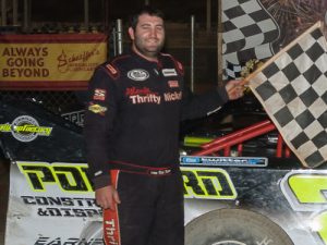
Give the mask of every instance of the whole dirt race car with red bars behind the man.
[[(269, 120), (245, 121), (217, 135), (183, 132), (185, 244), (326, 245), (326, 164), (303, 168)], [(102, 244), (82, 127), (10, 101), (0, 136), (11, 164), (5, 245)]]

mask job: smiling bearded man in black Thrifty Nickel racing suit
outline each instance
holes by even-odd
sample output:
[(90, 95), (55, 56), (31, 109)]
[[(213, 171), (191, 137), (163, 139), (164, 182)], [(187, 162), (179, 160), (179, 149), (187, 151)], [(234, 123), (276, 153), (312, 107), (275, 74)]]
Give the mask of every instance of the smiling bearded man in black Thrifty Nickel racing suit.
[(131, 20), (132, 50), (96, 69), (85, 117), (87, 161), (107, 245), (183, 245), (179, 123), (243, 95), (239, 81), (203, 96), (184, 88), (183, 68), (161, 53), (160, 11)]

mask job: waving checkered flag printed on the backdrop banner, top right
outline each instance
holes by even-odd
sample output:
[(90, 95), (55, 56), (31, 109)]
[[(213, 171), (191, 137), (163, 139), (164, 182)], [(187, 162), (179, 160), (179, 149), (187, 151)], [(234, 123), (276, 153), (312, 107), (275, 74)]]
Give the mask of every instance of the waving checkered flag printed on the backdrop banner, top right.
[[(232, 63), (271, 57), (279, 37), (272, 16), (258, 0), (222, 0), (223, 54)], [(239, 61), (239, 62), (237, 62)]]

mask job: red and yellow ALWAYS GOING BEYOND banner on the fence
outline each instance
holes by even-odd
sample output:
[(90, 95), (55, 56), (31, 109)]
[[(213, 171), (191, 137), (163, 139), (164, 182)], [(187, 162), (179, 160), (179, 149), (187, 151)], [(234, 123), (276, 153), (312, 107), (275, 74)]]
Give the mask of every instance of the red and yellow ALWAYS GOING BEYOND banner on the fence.
[(0, 87), (78, 89), (107, 59), (104, 34), (0, 35)]

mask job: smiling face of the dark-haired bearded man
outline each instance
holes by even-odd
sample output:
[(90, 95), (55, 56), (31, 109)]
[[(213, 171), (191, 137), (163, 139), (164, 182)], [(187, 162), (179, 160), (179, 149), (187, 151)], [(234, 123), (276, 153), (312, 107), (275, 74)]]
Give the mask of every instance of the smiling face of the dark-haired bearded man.
[(135, 30), (130, 27), (129, 34), (133, 48), (146, 58), (156, 58), (164, 47), (165, 27), (160, 17), (140, 15)]

